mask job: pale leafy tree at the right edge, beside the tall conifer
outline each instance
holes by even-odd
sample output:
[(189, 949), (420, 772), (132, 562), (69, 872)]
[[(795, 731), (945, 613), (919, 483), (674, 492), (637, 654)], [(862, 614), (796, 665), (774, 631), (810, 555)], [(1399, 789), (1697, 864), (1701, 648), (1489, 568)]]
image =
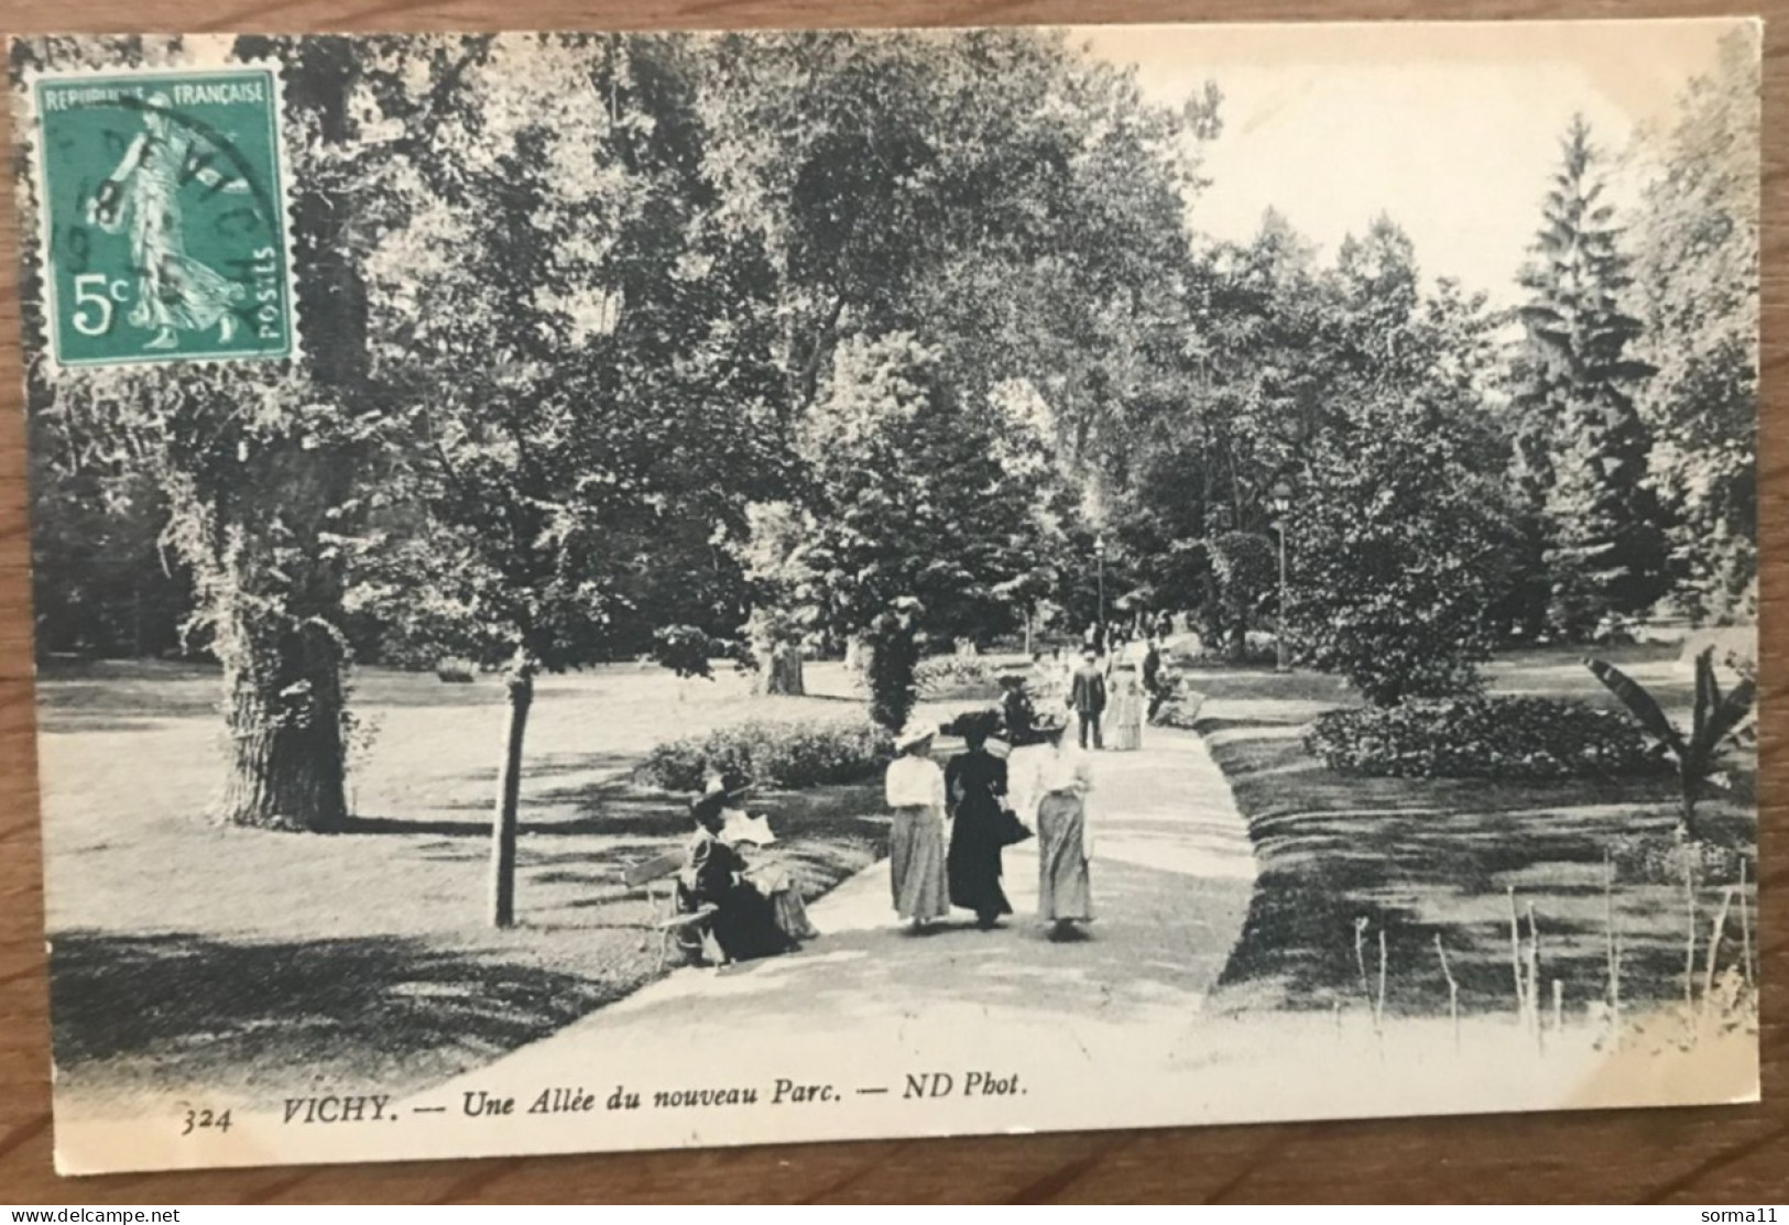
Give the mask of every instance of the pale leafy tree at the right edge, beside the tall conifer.
[(1735, 30), (1676, 122), (1637, 152), (1628, 238), (1649, 472), (1671, 513), (1673, 597), (1698, 621), (1757, 615), (1759, 43)]

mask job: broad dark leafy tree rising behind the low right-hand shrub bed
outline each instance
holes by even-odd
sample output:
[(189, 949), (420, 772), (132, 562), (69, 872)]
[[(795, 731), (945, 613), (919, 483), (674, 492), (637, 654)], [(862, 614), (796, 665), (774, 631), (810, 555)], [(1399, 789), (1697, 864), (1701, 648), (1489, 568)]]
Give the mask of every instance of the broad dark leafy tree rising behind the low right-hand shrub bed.
[(1453, 283), (1422, 291), (1385, 218), (1322, 286), (1329, 377), (1292, 481), (1288, 637), (1378, 705), (1471, 690), (1513, 562), (1487, 411), (1497, 318)]

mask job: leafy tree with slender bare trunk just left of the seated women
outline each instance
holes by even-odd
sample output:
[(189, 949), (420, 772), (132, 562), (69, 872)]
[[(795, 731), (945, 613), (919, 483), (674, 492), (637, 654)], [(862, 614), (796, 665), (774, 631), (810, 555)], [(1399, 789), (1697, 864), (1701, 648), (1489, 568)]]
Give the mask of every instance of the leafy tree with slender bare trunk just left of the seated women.
[(628, 640), (707, 667), (691, 553), (725, 538), (778, 440), (751, 336), (723, 313), (751, 268), (712, 224), (680, 38), (496, 39), (385, 195), (401, 215), (367, 261), (374, 376), (406, 456), (395, 492), (422, 513), (369, 542), (358, 596), (503, 667), (506, 926), (537, 676)]

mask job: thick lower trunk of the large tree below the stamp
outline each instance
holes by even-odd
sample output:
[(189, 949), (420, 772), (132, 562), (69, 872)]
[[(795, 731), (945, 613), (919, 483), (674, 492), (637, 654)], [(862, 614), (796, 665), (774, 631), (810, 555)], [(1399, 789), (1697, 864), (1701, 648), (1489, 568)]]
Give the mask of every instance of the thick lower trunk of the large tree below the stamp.
[(342, 646), (311, 622), (238, 622), (234, 637), (238, 649), (225, 653), (224, 672), (233, 749), (224, 821), (340, 830), (347, 819)]

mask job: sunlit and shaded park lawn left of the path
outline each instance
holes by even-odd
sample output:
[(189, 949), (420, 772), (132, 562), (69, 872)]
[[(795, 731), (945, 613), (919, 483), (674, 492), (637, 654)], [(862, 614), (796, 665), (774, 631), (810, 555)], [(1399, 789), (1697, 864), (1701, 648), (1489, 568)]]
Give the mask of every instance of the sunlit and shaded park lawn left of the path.
[[(853, 717), (741, 678), (596, 669), (540, 687), (517, 926), (483, 925), (496, 681), (365, 672), (351, 828), (220, 828), (216, 674), (106, 665), (39, 680), (47, 908), (61, 1109), (122, 1093), (277, 1100), (422, 1089), (657, 976), (621, 869), (674, 849), (687, 796), (635, 785), (655, 740), (744, 717)], [(819, 896), (886, 839), (873, 781), (753, 801)]]

